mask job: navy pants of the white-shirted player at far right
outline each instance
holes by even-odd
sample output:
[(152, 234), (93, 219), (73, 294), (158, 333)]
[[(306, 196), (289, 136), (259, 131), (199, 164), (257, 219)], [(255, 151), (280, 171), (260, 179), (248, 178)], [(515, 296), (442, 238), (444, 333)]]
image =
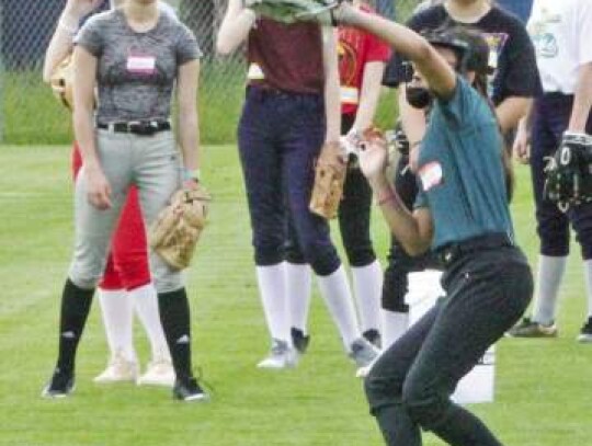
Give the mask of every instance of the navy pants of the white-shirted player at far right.
[[(573, 96), (547, 93), (535, 100), (532, 131), (531, 170), (536, 205), (540, 253), (565, 256), (569, 253), (570, 221), (582, 249), (584, 260), (592, 259), (592, 204), (587, 203), (561, 213), (557, 205), (543, 196), (545, 157), (550, 157), (561, 142), (571, 115)], [(592, 131), (588, 121), (587, 131)]]

